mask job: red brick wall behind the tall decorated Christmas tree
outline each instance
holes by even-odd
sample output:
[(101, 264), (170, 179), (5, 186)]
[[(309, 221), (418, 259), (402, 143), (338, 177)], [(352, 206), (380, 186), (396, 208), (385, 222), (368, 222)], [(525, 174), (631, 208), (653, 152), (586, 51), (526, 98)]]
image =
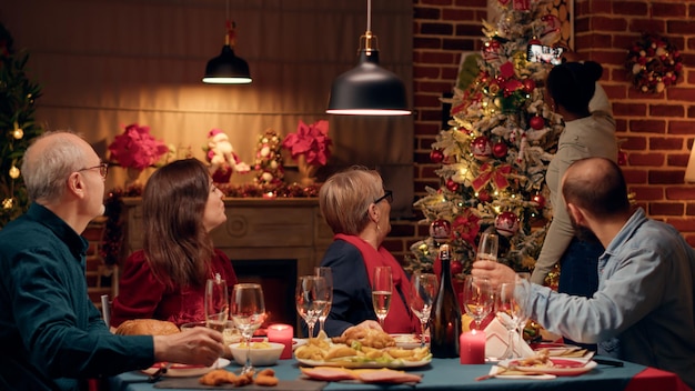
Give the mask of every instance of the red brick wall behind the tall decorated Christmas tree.
[[(494, 0), (491, 0), (494, 1)], [(462, 51), (479, 50), (486, 0), (414, 0), (415, 196), (439, 188), (430, 146), (440, 131), (439, 98), (451, 92)], [(675, 225), (695, 244), (695, 186), (683, 174), (695, 137), (695, 0), (575, 0), (575, 50), (601, 62), (617, 132), (625, 139), (624, 171), (647, 213)], [(684, 77), (661, 94), (631, 88), (623, 68), (643, 31), (666, 36), (682, 51)], [(393, 222), (385, 245), (399, 258), (427, 233), (413, 221)]]

